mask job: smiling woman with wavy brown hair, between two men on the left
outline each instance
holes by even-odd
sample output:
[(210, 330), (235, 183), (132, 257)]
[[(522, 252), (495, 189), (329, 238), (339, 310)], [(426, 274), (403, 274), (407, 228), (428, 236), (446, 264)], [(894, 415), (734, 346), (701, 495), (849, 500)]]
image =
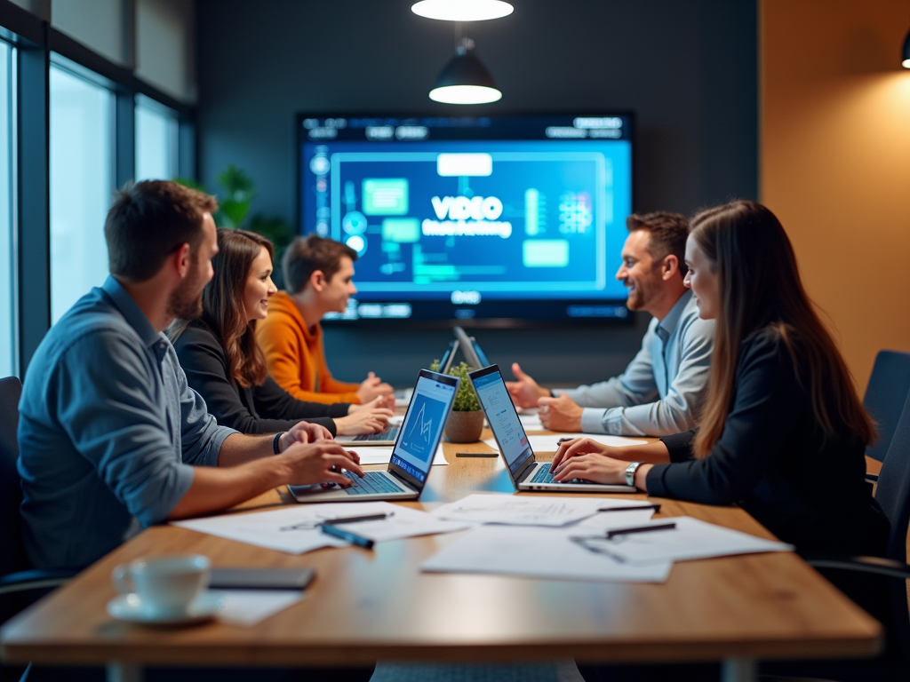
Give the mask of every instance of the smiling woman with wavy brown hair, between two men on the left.
[(264, 319), (272, 284), (274, 247), (247, 230), (217, 231), (215, 276), (202, 293), (202, 316), (168, 330), (189, 386), (206, 401), (219, 424), (245, 434), (284, 431), (306, 420), (333, 435), (378, 433), (391, 410), (382, 398), (365, 405), (297, 400), (268, 376), (256, 344), (256, 321)]

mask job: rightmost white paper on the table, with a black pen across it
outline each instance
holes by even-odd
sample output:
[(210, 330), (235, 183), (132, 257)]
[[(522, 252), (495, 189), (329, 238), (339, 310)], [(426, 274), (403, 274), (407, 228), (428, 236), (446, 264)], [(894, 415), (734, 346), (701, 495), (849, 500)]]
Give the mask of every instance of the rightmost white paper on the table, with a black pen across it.
[(692, 517), (659, 518), (641, 524), (641, 526), (657, 526), (665, 523), (675, 523), (676, 527), (668, 530), (655, 530), (651, 533), (633, 533), (613, 537), (610, 540), (589, 540), (588, 542), (592, 547), (609, 552), (612, 557), (630, 566), (647, 566), (655, 563), (661, 564), (664, 561), (686, 561), (759, 552), (786, 552), (794, 548), (783, 542), (773, 542), (761, 537), (750, 536)]

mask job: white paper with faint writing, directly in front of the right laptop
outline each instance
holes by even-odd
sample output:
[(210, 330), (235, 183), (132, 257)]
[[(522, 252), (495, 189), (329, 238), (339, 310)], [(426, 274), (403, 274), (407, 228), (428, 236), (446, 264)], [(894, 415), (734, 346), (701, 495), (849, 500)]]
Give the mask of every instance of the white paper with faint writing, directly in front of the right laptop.
[(469, 495), (433, 510), (451, 521), (559, 527), (591, 517), (604, 500), (594, 497)]

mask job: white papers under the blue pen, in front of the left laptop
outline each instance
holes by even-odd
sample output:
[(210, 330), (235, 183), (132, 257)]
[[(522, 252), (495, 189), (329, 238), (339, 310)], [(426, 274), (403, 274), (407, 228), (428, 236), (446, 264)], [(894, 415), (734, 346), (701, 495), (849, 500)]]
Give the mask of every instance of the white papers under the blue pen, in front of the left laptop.
[(323, 533), (317, 524), (333, 518), (364, 517), (371, 514), (392, 514), (388, 521), (365, 521), (346, 526), (350, 531), (370, 537), (376, 542), (450, 533), (466, 525), (444, 521), (426, 512), (388, 502), (332, 502), (320, 505), (288, 506), (274, 511), (253, 514), (229, 514), (222, 517), (192, 518), (174, 521), (173, 526), (190, 528), (200, 533), (249, 545), (278, 549), (289, 554), (303, 554), (320, 547), (347, 547), (348, 542)]

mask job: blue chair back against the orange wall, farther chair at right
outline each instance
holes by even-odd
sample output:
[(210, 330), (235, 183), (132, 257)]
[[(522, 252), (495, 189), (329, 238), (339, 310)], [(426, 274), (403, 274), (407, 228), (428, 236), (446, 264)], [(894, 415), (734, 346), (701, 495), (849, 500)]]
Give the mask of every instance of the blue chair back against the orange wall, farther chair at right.
[(910, 393), (910, 353), (882, 350), (875, 356), (875, 366), (869, 385), (865, 387), (863, 406), (878, 425), (878, 440), (865, 454), (885, 460), (885, 453), (901, 417), (907, 394)]

